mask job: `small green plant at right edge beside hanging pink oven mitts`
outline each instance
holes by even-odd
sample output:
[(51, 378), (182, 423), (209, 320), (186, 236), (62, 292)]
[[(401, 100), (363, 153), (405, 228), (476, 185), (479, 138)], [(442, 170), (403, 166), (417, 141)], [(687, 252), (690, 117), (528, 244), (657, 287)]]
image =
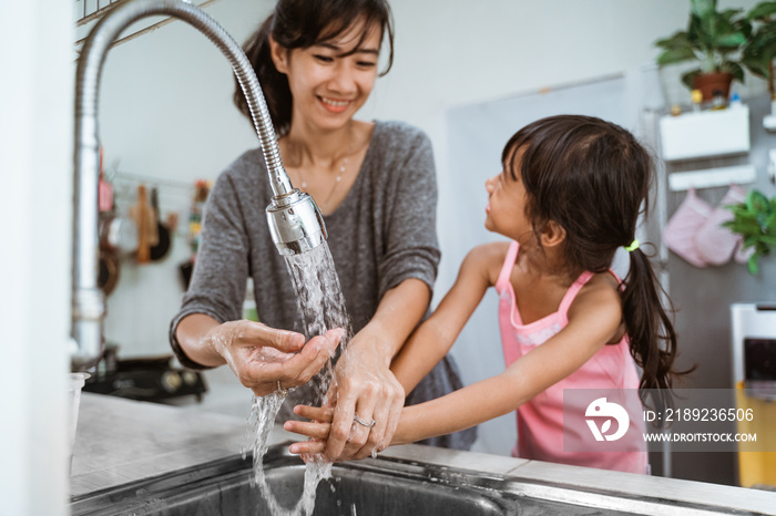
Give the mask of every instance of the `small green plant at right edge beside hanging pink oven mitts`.
[(753, 189), (744, 203), (727, 208), (733, 211), (733, 219), (723, 226), (744, 238), (744, 249), (753, 249), (747, 268), (755, 276), (759, 272), (759, 258), (770, 255), (776, 247), (776, 197), (768, 199), (762, 192)]

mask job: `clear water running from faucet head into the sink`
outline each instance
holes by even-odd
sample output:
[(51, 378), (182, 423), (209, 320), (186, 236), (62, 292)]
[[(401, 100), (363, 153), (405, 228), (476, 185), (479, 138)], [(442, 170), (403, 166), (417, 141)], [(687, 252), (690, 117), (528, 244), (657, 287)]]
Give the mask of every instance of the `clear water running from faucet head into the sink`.
[[(315, 336), (326, 333), (327, 330), (343, 328), (346, 334), (340, 340), (339, 345), (340, 350), (345, 351), (350, 339), (350, 322), (328, 245), (324, 242), (302, 255), (287, 256), (286, 266), (290, 272), (299, 310), (305, 321), (306, 338), (309, 340)], [(321, 372), (310, 380), (316, 395), (314, 404), (326, 403), (326, 393), (333, 380), (334, 370), (329, 359)], [(304, 491), (299, 500), (292, 508), (283, 507), (277, 502), (264, 475), (267, 437), (285, 399), (285, 394), (279, 392), (263, 398), (253, 398), (246, 443), (247, 448), (253, 452), (254, 482), (267, 502), (273, 516), (309, 516), (315, 508), (315, 492), (318, 483), (331, 476), (330, 462), (325, 461), (320, 455), (307, 457)], [(243, 456), (247, 454), (247, 451), (243, 452)]]

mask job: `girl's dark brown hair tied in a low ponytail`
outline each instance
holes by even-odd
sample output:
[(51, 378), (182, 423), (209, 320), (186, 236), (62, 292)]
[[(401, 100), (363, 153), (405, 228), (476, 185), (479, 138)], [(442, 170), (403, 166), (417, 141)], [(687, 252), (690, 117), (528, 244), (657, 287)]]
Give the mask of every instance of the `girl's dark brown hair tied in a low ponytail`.
[[(652, 156), (610, 122), (580, 115), (540, 120), (510, 138), (501, 161), (512, 179), (519, 167), (537, 236), (550, 220), (565, 230), (563, 261), (571, 274), (607, 271), (617, 248), (633, 242), (639, 215), (649, 211)], [(652, 401), (672, 406), (673, 379), (684, 372), (673, 368), (676, 333), (664, 290), (641, 248), (630, 258), (621, 297), (631, 354), (643, 370), (639, 386), (665, 390)]]

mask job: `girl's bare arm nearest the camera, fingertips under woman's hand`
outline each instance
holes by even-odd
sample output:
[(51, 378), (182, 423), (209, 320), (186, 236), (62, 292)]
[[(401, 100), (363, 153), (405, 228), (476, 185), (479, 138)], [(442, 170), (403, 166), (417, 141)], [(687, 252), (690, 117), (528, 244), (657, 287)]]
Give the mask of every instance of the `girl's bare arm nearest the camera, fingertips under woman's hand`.
[[(507, 414), (550, 385), (576, 371), (603, 345), (621, 333), (622, 308), (615, 289), (602, 281), (585, 287), (570, 311), (569, 324), (547, 342), (487, 380), (460, 389), (437, 400), (406, 406), (391, 444), (405, 444), (457, 432)], [(296, 413), (316, 423), (289, 421), (286, 430), (326, 438), (324, 411), (297, 406)], [(317, 453), (320, 443), (308, 441), (292, 445), (292, 453)]]

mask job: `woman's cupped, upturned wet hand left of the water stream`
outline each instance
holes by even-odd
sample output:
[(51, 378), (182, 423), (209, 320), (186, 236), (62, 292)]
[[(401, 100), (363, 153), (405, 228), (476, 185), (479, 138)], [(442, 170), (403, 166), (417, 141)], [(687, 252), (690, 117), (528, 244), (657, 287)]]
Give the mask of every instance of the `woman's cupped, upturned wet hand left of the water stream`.
[(212, 328), (205, 340), (243, 385), (264, 396), (307, 383), (334, 353), (341, 334), (343, 330), (329, 330), (305, 343), (302, 333), (241, 320)]

